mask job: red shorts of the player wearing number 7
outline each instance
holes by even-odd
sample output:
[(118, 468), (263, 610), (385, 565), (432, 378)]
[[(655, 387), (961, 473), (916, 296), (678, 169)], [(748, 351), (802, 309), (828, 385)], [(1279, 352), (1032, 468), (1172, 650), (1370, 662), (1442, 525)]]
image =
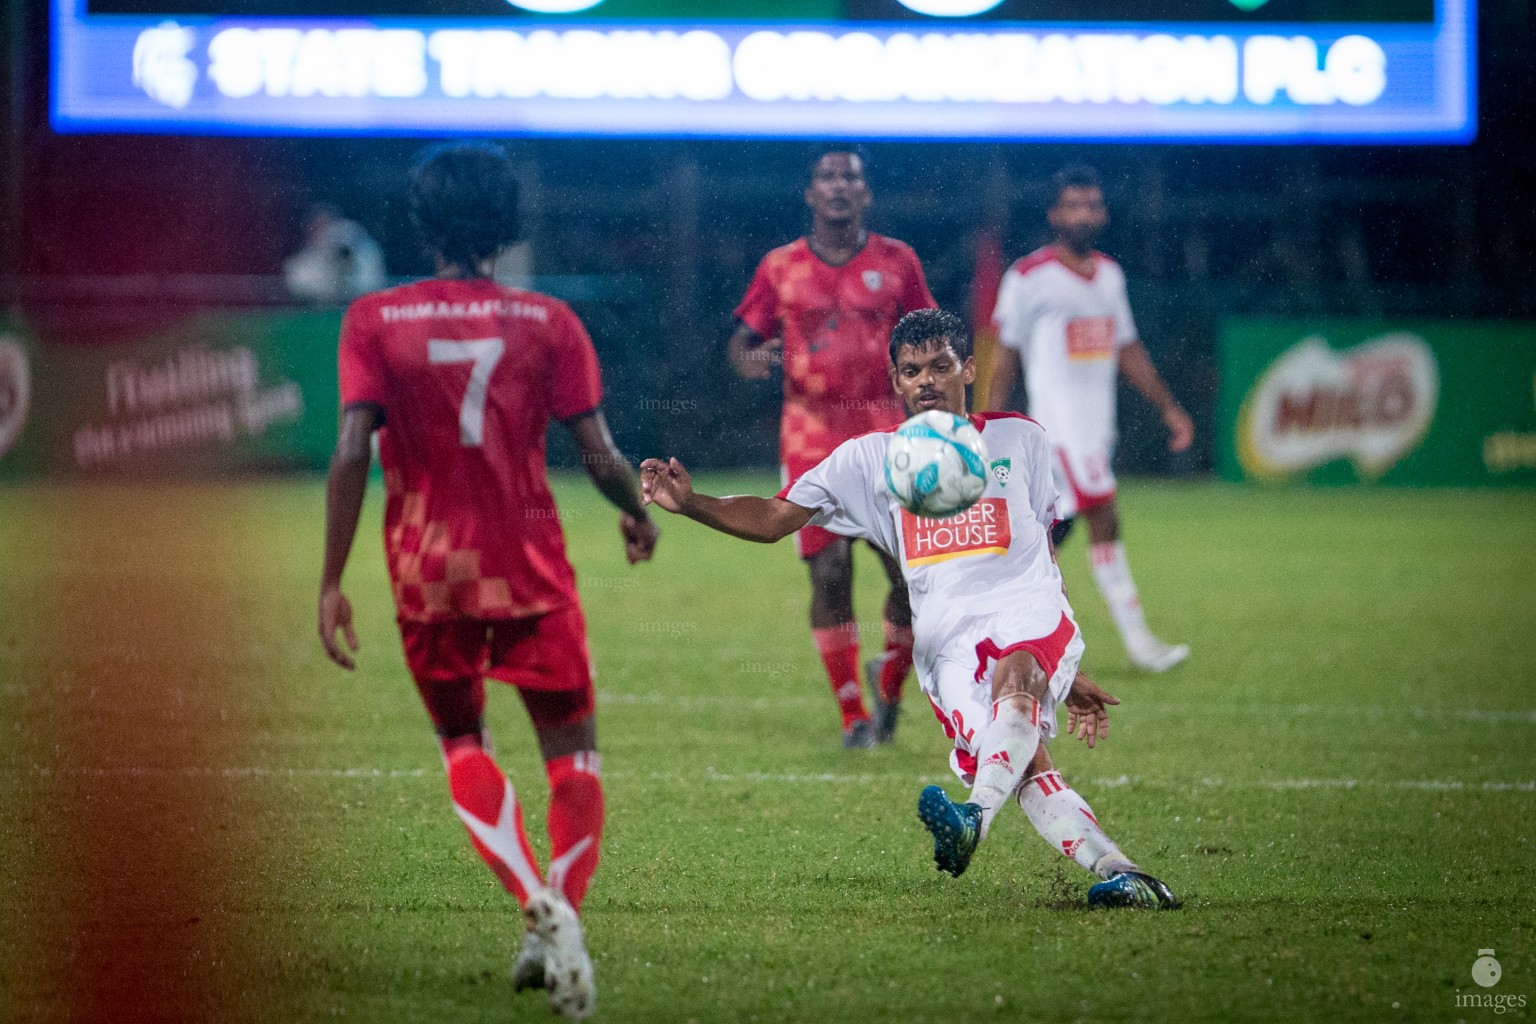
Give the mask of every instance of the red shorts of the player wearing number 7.
[(450, 705), (484, 703), (487, 676), (522, 692), (536, 726), (571, 725), (593, 711), (587, 620), (574, 602), (536, 619), (401, 622), (399, 636), (439, 728), (461, 717)]

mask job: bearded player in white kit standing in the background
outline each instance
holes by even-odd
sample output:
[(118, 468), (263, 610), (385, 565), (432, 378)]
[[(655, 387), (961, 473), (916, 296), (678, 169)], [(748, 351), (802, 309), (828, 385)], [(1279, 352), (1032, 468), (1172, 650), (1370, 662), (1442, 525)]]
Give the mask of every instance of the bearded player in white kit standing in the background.
[(1163, 413), (1172, 451), (1189, 448), (1195, 427), (1137, 338), (1124, 272), (1094, 250), (1109, 224), (1098, 172), (1074, 164), (1057, 172), (1052, 184), (1055, 200), (1046, 218), (1055, 241), (1009, 267), (997, 292), (992, 319), (1003, 345), (1018, 358), (997, 361), (986, 408), (1008, 405), (1021, 361), (1029, 415), (1051, 436), (1063, 496), (1063, 525), (1054, 539), (1061, 543), (1074, 516), (1087, 519), (1094, 582), (1126, 652), (1137, 668), (1161, 672), (1189, 657), (1189, 648), (1164, 643), (1147, 628), (1120, 540), (1115, 474), (1109, 468), (1117, 373)]

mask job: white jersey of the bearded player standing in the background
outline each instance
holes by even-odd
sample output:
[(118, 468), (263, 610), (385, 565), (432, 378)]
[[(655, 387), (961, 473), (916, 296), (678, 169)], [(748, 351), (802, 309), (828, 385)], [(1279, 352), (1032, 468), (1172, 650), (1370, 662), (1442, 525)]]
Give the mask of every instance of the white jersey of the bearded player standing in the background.
[(1095, 252), (1084, 278), (1051, 246), (1037, 249), (1003, 275), (992, 322), (1023, 361), (1029, 415), (1052, 442), (1107, 450), (1120, 348), (1137, 339), (1120, 264)]

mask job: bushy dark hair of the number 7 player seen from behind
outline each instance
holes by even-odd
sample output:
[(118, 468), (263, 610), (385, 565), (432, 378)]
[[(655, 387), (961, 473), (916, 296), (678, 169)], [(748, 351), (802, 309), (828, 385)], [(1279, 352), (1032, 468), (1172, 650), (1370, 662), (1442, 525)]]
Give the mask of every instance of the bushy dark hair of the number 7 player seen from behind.
[(429, 249), (473, 272), (518, 241), (518, 180), (490, 143), (422, 150), (410, 167), (410, 220)]

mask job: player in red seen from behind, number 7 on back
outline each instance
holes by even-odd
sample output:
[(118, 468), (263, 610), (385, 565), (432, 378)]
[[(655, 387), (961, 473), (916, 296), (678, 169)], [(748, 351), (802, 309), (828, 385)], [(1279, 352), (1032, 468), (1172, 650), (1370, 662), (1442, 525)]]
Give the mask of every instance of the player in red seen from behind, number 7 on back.
[[(343, 668), (358, 649), (341, 574), (367, 487), (384, 464), (384, 550), (406, 662), (436, 726), (453, 811), (524, 907), (519, 989), (556, 1012), (593, 1009), (576, 917), (602, 838), (604, 798), (587, 628), (544, 465), (551, 419), (619, 510), (630, 562), (656, 525), (608, 436), (591, 339), (561, 301), (496, 284), (516, 239), (518, 189), (493, 146), (427, 150), (410, 209), (436, 278), (367, 295), (341, 327), (341, 433), (326, 491), (319, 636)], [(550, 781), (550, 864), (541, 877), (511, 783), (485, 735), (485, 677), (518, 688)]]

